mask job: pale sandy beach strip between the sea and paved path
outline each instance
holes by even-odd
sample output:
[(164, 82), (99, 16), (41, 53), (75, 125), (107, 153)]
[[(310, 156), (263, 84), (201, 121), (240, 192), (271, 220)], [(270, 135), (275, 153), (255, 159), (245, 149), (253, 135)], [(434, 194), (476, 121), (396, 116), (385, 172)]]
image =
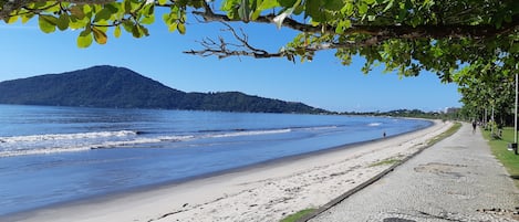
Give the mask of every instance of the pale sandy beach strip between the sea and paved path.
[[(319, 208), (415, 154), (447, 130), (428, 128), (331, 151), (272, 161), (184, 183), (46, 208), (15, 221), (279, 221)], [(391, 136), (391, 135), (390, 135)]]

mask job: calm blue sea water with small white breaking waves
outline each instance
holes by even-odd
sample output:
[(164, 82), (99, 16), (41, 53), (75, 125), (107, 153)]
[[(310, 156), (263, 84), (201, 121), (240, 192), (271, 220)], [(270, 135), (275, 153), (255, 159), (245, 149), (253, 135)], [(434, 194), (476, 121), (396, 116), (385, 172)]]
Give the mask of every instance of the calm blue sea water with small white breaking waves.
[(0, 215), (429, 125), (384, 117), (0, 105)]

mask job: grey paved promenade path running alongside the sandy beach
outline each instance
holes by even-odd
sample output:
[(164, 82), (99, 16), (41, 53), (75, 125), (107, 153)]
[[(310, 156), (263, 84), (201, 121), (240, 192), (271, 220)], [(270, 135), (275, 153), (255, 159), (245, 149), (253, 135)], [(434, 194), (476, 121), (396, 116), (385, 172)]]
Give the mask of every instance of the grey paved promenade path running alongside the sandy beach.
[(512, 179), (465, 124), (311, 221), (516, 221), (518, 207)]

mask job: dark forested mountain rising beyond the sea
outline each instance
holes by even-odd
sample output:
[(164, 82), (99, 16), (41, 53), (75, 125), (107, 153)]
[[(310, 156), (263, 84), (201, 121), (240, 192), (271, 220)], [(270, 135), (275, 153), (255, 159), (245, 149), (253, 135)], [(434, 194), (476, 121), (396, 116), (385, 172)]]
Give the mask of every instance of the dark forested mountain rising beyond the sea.
[(0, 82), (0, 103), (253, 113), (325, 113), (323, 109), (302, 103), (262, 98), (239, 92), (185, 93), (128, 68), (107, 65)]

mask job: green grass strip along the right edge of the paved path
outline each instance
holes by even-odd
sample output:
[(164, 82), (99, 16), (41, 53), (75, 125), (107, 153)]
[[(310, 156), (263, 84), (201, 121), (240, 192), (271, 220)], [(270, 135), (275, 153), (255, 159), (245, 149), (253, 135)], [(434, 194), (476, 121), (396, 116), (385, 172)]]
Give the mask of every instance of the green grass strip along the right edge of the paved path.
[(508, 144), (513, 142), (513, 128), (504, 128), (501, 139), (492, 138), (489, 130), (482, 130), (482, 135), (488, 140), (494, 156), (507, 168), (516, 187), (519, 188), (519, 156), (508, 150)]

